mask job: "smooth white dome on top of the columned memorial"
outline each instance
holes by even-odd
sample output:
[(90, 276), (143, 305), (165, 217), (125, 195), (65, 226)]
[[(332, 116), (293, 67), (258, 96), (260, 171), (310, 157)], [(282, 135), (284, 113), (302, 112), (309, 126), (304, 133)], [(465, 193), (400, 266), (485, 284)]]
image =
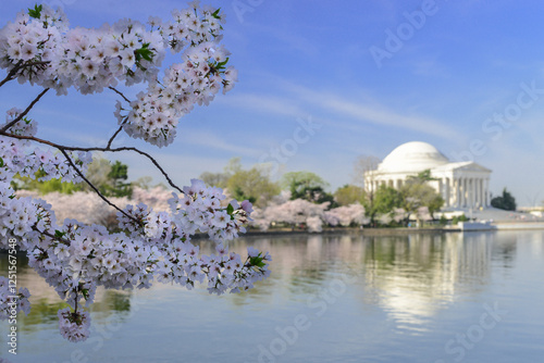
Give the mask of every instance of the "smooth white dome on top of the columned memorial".
[(447, 163), (449, 160), (432, 145), (411, 141), (393, 150), (378, 170), (387, 173), (419, 173)]

